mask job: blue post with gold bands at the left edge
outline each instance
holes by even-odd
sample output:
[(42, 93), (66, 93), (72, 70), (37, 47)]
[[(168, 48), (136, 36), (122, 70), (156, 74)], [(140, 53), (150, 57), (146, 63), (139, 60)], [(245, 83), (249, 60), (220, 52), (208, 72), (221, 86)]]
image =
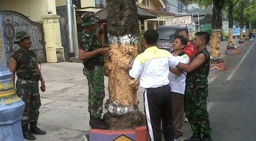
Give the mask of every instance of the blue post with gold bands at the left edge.
[(12, 73), (7, 68), (0, 12), (0, 140), (24, 140), (21, 118), (25, 104), (16, 95)]

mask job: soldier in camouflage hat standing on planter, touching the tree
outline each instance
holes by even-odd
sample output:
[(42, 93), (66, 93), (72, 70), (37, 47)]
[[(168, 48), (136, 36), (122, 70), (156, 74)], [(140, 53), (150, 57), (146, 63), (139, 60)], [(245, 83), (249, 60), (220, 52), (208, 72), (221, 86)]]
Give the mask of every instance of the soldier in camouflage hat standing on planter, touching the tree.
[[(87, 77), (89, 96), (88, 110), (90, 112), (90, 126), (94, 129), (109, 129), (101, 119), (104, 90), (104, 54), (108, 48), (101, 47), (97, 35), (94, 33), (98, 28), (98, 17), (91, 13), (81, 16), (83, 31), (79, 37), (79, 58), (83, 60), (83, 74)], [(104, 31), (106, 24), (101, 25), (100, 31)]]

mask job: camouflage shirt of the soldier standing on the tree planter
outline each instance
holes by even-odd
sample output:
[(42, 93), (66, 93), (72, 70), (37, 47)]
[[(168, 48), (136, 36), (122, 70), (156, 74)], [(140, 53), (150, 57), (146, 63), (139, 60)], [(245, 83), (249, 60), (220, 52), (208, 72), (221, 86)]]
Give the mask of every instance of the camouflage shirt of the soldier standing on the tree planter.
[[(79, 49), (93, 51), (101, 47), (100, 39), (94, 32), (82, 31), (79, 37)], [(98, 54), (92, 58), (94, 62), (104, 62), (104, 55)]]

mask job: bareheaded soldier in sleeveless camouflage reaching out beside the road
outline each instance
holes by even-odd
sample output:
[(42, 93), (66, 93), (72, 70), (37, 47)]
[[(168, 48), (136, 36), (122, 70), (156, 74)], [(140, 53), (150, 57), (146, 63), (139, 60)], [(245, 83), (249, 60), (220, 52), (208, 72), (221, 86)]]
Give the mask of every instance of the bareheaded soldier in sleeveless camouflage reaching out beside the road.
[[(193, 135), (189, 141), (210, 141), (210, 123), (208, 119), (207, 103), (210, 54), (207, 44), (210, 36), (207, 32), (195, 34), (194, 47), (198, 52), (194, 54), (189, 65), (179, 64), (177, 68), (188, 72), (186, 77), (186, 117), (191, 124)], [(203, 138), (201, 138), (203, 134)]]

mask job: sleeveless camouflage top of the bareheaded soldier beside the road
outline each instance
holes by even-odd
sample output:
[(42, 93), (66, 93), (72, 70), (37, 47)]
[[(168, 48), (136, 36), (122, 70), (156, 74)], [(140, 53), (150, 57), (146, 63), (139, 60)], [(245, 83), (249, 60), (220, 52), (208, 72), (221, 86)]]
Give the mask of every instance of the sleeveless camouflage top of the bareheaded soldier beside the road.
[(193, 70), (193, 72), (187, 73), (186, 84), (193, 84), (197, 86), (208, 84), (207, 77), (210, 68), (210, 53), (207, 51), (207, 49), (203, 49), (195, 53), (190, 62), (192, 62), (200, 53), (203, 53), (205, 61), (198, 68)]

